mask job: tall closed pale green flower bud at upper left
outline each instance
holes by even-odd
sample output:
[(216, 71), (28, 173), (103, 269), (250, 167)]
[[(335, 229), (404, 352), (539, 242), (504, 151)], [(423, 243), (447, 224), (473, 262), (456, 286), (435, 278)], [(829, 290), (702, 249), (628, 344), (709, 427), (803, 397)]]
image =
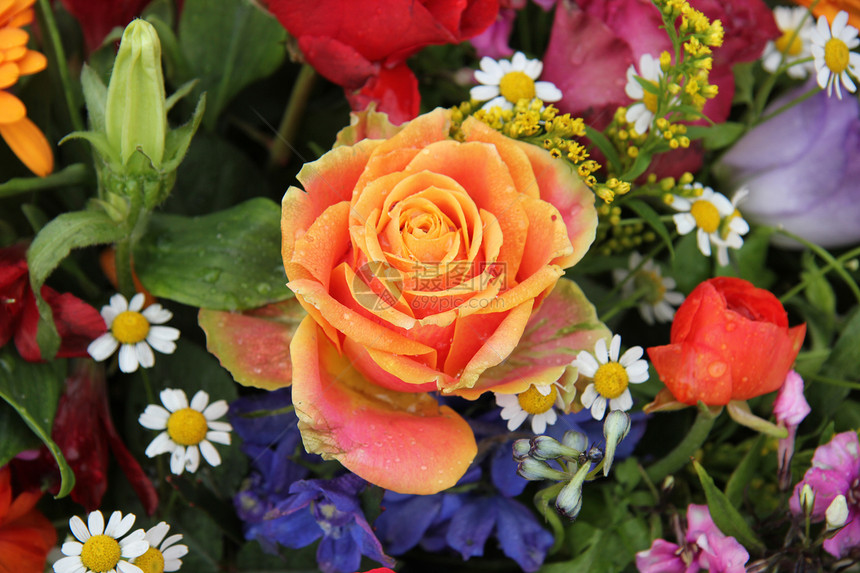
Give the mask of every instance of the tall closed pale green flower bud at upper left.
[(161, 42), (155, 28), (134, 20), (122, 34), (105, 103), (108, 144), (125, 165), (140, 149), (155, 168), (167, 134)]

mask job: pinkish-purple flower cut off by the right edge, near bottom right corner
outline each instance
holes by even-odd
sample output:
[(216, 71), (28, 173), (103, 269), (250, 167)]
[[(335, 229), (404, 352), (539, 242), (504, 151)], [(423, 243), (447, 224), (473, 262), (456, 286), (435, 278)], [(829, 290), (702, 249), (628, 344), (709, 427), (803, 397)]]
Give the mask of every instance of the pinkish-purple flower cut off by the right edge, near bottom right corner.
[(830, 442), (815, 450), (812, 467), (794, 487), (794, 495), (789, 501), (791, 512), (795, 515), (803, 513), (800, 491), (807, 484), (815, 492), (813, 521), (825, 519), (827, 508), (837, 496), (843, 495), (848, 501), (845, 526), (824, 541), (824, 550), (839, 559), (852, 548), (860, 546), (860, 519), (856, 519), (860, 512), (860, 444), (856, 432), (836, 434)]

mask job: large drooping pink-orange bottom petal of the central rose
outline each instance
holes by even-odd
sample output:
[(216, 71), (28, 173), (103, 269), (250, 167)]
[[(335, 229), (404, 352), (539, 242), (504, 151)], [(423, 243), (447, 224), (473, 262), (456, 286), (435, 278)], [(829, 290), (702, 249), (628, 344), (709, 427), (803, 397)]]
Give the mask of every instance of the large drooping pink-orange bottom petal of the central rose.
[(437, 493), (465, 473), (477, 445), (453, 410), (427, 394), (390, 392), (364, 379), (310, 318), (292, 351), (293, 404), (308, 451), (399, 493)]

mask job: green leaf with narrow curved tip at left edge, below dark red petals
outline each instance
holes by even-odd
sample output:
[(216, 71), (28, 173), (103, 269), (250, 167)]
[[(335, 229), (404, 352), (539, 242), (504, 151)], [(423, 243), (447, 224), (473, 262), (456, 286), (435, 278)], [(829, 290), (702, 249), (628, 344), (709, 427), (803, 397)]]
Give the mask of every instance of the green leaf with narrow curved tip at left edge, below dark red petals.
[[(56, 496), (58, 498), (68, 495), (75, 487), (75, 474), (66, 463), (59, 446), (51, 439), (54, 414), (63, 392), (65, 376), (65, 360), (30, 363), (13, 357), (11, 353), (0, 356), (0, 398), (15, 409), (57, 460), (61, 479), (60, 491)], [(20, 437), (18, 440), (21, 444)], [(4, 433), (3, 439), (0, 440), (0, 460), (9, 456), (8, 447)]]

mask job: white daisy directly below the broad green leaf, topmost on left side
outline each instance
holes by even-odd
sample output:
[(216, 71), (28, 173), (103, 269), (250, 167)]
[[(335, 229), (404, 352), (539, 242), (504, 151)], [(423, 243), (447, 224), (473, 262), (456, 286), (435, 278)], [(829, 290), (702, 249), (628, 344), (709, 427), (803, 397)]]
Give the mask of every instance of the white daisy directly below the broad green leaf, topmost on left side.
[(94, 360), (107, 360), (119, 346), (119, 369), (134, 372), (138, 366), (151, 368), (155, 364), (153, 349), (162, 354), (176, 350), (174, 341), (179, 338), (179, 331), (172, 326), (153, 326), (164, 324), (173, 318), (173, 313), (157, 303), (141, 312), (143, 300), (142, 293), (131, 297), (131, 303), (121, 294), (115, 294), (110, 304), (102, 307), (108, 332), (87, 347)]

